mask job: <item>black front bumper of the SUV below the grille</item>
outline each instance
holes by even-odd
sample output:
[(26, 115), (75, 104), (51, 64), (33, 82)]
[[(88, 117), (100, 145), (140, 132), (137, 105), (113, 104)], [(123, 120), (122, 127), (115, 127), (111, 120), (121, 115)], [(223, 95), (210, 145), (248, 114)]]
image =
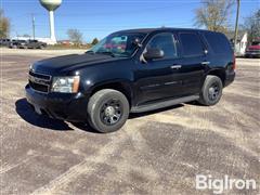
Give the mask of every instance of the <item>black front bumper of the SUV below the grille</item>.
[(26, 100), (38, 114), (67, 121), (86, 121), (88, 119), (88, 95), (82, 93), (40, 93), (27, 84)]

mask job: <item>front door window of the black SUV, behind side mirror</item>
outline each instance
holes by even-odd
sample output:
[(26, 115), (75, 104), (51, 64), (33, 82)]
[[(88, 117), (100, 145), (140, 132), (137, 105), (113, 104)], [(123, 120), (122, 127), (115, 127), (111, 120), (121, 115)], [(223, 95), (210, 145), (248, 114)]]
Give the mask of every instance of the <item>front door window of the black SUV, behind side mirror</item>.
[(147, 49), (160, 49), (165, 53), (165, 58), (177, 57), (176, 41), (172, 34), (156, 35), (147, 44)]

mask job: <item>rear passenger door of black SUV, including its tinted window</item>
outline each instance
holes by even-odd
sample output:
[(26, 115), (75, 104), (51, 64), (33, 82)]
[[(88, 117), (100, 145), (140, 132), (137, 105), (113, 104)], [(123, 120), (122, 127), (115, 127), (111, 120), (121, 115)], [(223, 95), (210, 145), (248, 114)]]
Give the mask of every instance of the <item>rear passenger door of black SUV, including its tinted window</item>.
[(179, 31), (181, 47), (182, 95), (197, 94), (204, 83), (208, 68), (207, 49), (196, 31)]

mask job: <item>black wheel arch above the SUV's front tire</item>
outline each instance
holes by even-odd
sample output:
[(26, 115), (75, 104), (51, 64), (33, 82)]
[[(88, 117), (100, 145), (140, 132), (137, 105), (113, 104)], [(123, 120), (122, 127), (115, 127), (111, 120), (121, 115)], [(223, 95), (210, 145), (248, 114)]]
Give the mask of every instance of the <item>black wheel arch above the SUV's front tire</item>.
[(129, 105), (131, 107), (132, 94), (131, 94), (131, 88), (128, 84), (121, 83), (121, 82), (105, 83), (105, 84), (95, 87), (92, 90), (90, 95), (92, 96), (95, 92), (98, 92), (100, 90), (103, 90), (103, 89), (113, 89), (113, 90), (120, 91), (122, 94), (126, 95), (126, 98), (127, 98), (127, 100), (129, 102)]

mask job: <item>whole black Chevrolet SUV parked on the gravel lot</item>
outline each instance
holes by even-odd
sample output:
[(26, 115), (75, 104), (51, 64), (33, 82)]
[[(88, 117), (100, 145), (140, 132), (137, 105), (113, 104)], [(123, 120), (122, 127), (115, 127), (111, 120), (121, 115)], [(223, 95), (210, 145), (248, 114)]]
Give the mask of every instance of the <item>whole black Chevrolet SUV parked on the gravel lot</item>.
[(191, 101), (214, 105), (234, 78), (223, 34), (133, 29), (109, 35), (84, 54), (36, 62), (25, 90), (38, 114), (112, 132), (129, 113)]

